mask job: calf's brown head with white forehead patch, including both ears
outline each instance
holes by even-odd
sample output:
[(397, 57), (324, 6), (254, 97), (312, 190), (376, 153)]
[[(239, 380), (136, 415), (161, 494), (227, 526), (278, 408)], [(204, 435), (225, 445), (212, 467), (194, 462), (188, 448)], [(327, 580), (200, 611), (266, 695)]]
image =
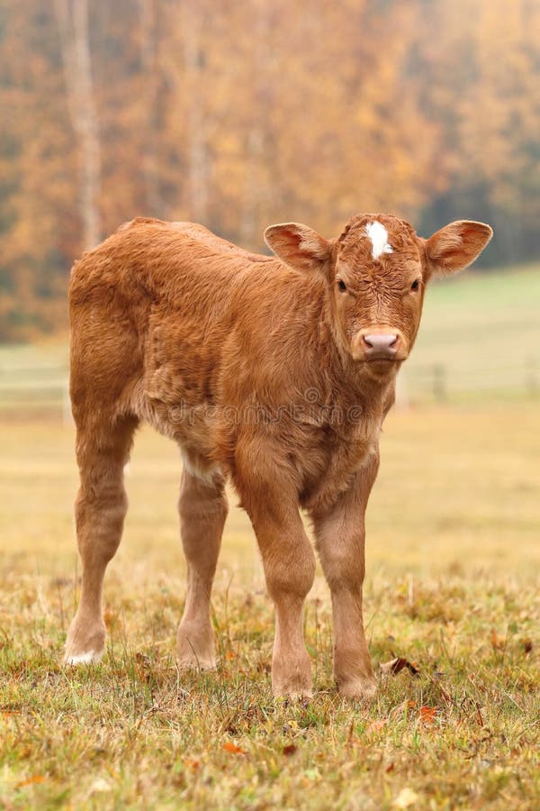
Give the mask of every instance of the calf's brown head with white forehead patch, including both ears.
[(291, 268), (322, 275), (337, 341), (379, 376), (409, 355), (429, 279), (466, 268), (492, 233), (459, 220), (425, 240), (398, 217), (358, 214), (336, 240), (301, 223), (271, 225), (265, 239)]

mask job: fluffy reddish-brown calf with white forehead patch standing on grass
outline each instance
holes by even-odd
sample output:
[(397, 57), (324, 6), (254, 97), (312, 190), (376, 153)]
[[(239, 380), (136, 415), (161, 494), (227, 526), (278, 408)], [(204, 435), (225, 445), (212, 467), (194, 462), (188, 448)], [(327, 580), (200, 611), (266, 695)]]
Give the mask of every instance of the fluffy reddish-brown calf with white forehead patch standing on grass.
[(67, 662), (103, 653), (103, 576), (127, 509), (122, 471), (146, 421), (184, 458), (180, 665), (216, 663), (210, 597), (230, 478), (275, 603), (275, 694), (311, 694), (302, 608), (315, 558), (302, 507), (331, 591), (338, 689), (373, 695), (362, 586), (379, 433), (428, 281), (464, 269), (491, 233), (460, 221), (424, 240), (397, 217), (360, 214), (334, 240), (298, 223), (270, 226), (274, 258), (200, 225), (138, 218), (76, 262), (71, 400), (84, 568)]

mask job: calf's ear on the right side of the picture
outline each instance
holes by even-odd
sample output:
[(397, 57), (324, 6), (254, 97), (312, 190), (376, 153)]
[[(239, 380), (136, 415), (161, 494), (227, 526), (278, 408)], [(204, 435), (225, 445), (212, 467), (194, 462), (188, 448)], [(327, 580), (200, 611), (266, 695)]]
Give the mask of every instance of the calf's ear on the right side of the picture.
[(482, 253), (492, 236), (489, 225), (473, 220), (446, 225), (425, 242), (429, 269), (442, 276), (463, 270)]

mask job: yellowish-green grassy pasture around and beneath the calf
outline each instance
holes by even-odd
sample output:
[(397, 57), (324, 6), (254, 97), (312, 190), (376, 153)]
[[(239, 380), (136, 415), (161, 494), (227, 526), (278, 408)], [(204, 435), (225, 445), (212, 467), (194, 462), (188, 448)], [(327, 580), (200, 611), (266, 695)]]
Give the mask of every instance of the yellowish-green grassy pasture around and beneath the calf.
[[(78, 588), (73, 426), (56, 403), (25, 417), (6, 396), (0, 806), (540, 806), (539, 403), (527, 377), (500, 372), (517, 358), (534, 369), (538, 278), (534, 269), (464, 278), (428, 298), (407, 378), (412, 405), (385, 424), (367, 516), (365, 617), (380, 681), (371, 706), (333, 687), (320, 571), (305, 615), (315, 696), (273, 699), (273, 611), (236, 507), (212, 601), (220, 667), (175, 669), (180, 460), (147, 429), (105, 582), (108, 652), (99, 665), (62, 667)], [(65, 347), (0, 353), (22, 376), (26, 364), (29, 389), (32, 369), (64, 358)], [(422, 369), (440, 362), (450, 381), (461, 369), (478, 385), (431, 402)], [(397, 657), (407, 661), (399, 672), (380, 669)]]

